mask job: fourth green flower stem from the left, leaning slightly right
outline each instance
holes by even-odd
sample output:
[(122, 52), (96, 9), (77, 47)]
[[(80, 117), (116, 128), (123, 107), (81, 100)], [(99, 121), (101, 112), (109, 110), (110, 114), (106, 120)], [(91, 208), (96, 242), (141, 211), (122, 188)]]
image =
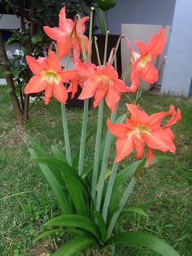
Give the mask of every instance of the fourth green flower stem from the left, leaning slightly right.
[[(117, 112), (117, 106), (116, 106), (116, 112)], [(111, 121), (114, 122), (116, 120), (116, 112), (111, 113)], [(109, 151), (111, 147), (112, 142), (112, 135), (111, 132), (107, 131), (107, 138), (105, 142), (105, 148), (104, 148), (104, 154), (103, 154), (103, 162), (102, 162), (102, 169), (101, 173), (98, 179), (98, 194), (96, 198), (96, 210), (100, 210), (101, 202), (102, 202), (102, 196), (103, 196), (103, 188), (104, 188), (104, 182), (105, 182), (105, 174), (107, 170), (107, 163), (109, 159)]]

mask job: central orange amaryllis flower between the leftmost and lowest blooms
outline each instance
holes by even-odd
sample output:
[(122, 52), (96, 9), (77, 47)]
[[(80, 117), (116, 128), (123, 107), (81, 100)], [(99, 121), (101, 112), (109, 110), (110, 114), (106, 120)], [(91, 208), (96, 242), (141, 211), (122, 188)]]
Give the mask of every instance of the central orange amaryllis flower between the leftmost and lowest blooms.
[(76, 65), (81, 76), (87, 78), (79, 99), (89, 99), (94, 96), (94, 108), (105, 96), (107, 106), (112, 112), (116, 111), (116, 104), (120, 100), (120, 93), (127, 91), (125, 83), (118, 79), (116, 70), (110, 64), (85, 68), (82, 64)]

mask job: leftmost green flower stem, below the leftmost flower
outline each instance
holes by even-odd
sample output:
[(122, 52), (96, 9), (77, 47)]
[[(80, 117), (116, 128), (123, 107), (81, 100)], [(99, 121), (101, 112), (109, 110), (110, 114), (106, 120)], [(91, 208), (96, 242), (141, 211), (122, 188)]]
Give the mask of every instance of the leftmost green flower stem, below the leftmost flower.
[(72, 165), (71, 146), (70, 146), (70, 140), (68, 135), (68, 118), (67, 118), (66, 108), (64, 104), (61, 104), (61, 111), (62, 111), (66, 158), (68, 160), (69, 165)]

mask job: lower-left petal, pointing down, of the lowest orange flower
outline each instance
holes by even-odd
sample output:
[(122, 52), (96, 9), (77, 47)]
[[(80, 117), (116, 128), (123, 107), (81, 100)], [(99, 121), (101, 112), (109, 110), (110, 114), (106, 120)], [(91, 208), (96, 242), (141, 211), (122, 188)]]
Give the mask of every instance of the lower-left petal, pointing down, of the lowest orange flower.
[(116, 160), (121, 161), (125, 157), (129, 156), (131, 152), (133, 152), (134, 143), (133, 136), (129, 135), (125, 139), (117, 139), (116, 140)]

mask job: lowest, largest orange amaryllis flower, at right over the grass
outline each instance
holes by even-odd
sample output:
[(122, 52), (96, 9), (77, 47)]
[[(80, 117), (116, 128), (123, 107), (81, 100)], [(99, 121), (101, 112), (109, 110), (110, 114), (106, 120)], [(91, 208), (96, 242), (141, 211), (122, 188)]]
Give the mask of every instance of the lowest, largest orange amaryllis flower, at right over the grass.
[[(169, 127), (181, 119), (179, 109), (176, 111), (171, 105), (168, 112), (159, 112), (148, 116), (136, 105), (127, 104), (127, 108), (131, 117), (126, 119), (124, 124), (112, 124), (109, 119), (107, 120), (108, 129), (112, 135), (117, 137), (116, 161), (121, 161), (124, 157), (129, 156), (133, 149), (137, 152), (136, 157), (141, 158), (145, 144), (149, 148), (146, 153), (146, 157), (149, 157), (147, 166), (150, 166), (154, 160), (153, 149), (162, 152), (175, 152), (174, 135)], [(162, 119), (168, 115), (172, 117), (166, 125), (162, 126)]]

